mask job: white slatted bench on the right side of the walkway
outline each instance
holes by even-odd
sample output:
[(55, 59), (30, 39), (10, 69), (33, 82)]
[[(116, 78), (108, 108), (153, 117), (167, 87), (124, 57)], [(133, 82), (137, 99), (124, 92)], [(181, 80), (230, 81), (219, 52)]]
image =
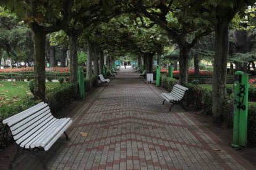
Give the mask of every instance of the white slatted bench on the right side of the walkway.
[(173, 103), (173, 105), (171, 105), (171, 107), (169, 108), (169, 111), (171, 111), (171, 108), (173, 108), (173, 106), (177, 103), (181, 105), (181, 107), (184, 108), (184, 110), (186, 111), (186, 108), (184, 107), (182, 102), (184, 100), (184, 95), (188, 90), (189, 89), (187, 87), (181, 86), (179, 84), (175, 84), (170, 93), (167, 93), (167, 92), (161, 93), (161, 96), (164, 98), (163, 104), (165, 101)]

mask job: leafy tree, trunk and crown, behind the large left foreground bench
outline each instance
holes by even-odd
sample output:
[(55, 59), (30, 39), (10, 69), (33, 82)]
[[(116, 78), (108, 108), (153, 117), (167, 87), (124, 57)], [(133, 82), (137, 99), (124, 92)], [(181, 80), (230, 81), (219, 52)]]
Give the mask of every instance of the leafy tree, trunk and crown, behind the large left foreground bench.
[(72, 0), (60, 1), (1, 1), (28, 23), (34, 34), (35, 99), (45, 98), (45, 40), (46, 34), (59, 31), (70, 21)]

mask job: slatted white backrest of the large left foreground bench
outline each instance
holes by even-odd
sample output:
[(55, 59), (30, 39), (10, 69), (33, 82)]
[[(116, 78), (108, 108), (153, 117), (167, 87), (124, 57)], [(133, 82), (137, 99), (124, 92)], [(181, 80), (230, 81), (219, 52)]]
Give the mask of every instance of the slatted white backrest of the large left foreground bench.
[(36, 134), (41, 127), (47, 126), (53, 118), (48, 104), (41, 102), (11, 118), (4, 119), (2, 123), (10, 127), (14, 140), (20, 144), (23, 140)]

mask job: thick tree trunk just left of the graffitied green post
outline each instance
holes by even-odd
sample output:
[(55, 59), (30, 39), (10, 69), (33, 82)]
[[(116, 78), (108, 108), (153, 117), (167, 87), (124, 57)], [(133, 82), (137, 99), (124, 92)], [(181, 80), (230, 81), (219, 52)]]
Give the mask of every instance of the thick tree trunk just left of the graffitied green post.
[(228, 21), (215, 28), (215, 59), (213, 61), (213, 123), (223, 121), (223, 104), (226, 97), (226, 75), (228, 59)]

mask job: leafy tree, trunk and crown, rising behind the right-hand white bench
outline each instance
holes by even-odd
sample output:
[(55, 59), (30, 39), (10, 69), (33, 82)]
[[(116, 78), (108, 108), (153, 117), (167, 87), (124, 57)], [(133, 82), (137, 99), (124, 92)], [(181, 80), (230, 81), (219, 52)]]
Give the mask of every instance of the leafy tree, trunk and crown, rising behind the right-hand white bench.
[[(187, 83), (190, 49), (202, 36), (209, 34), (211, 26), (194, 13), (193, 7), (198, 5), (194, 1), (132, 1), (128, 6), (137, 10), (138, 15), (150, 18), (152, 23), (145, 26), (158, 24), (163, 28), (169, 39), (173, 39), (179, 46), (179, 82)], [(143, 19), (143, 16), (140, 17)]]

